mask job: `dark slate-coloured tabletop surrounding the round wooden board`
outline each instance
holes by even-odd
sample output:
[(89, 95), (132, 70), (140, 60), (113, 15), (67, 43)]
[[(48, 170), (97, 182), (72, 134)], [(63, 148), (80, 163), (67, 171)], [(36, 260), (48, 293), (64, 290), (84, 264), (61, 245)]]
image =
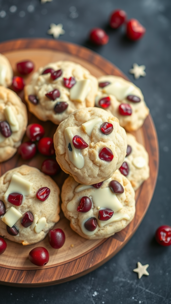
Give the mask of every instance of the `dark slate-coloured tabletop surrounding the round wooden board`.
[[(16, 5), (16, 12), (10, 12), (12, 5)], [(124, 27), (116, 31), (109, 28), (108, 17), (118, 7), (127, 12), (128, 18), (136, 18), (146, 27), (142, 40), (126, 40)], [(90, 47), (118, 66), (144, 93), (160, 146), (156, 190), (143, 222), (128, 244), (97, 270), (68, 283), (28, 289), (0, 286), (3, 304), (171, 303), (171, 247), (161, 247), (154, 240), (158, 226), (171, 225), (170, 18), (170, 0), (53, 0), (45, 4), (40, 0), (0, 0), (0, 41), (51, 38), (47, 35), (50, 23), (62, 23), (65, 35), (60, 40)], [(87, 40), (89, 30), (97, 26), (110, 35), (109, 43), (102, 47), (93, 47)], [(145, 64), (146, 77), (134, 80), (128, 73), (134, 62)], [(139, 280), (132, 271), (137, 261), (149, 264), (148, 277)]]

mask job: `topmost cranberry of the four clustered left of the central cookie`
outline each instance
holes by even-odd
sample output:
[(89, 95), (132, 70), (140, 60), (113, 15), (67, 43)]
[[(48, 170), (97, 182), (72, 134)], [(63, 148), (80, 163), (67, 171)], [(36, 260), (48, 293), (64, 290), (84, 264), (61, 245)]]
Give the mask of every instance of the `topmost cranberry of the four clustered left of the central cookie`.
[(31, 123), (27, 126), (26, 135), (31, 141), (40, 140), (44, 136), (44, 128), (38, 123)]

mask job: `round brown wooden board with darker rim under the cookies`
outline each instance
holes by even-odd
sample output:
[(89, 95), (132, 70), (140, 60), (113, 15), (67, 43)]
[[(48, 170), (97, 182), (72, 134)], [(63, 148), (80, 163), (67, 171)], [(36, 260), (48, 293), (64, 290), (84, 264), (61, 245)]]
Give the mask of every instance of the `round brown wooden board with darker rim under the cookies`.
[[(113, 64), (84, 47), (62, 41), (47, 39), (22, 39), (7, 41), (0, 44), (0, 52), (9, 59), (14, 74), (16, 62), (30, 59), (35, 69), (58, 60), (72, 60), (86, 67), (94, 76), (113, 74), (127, 77)], [(32, 75), (25, 77), (26, 83)], [(23, 92), (19, 93), (23, 99)], [(23, 100), (24, 101), (24, 100)], [(147, 100), (148, 103), (148, 100)], [(53, 137), (56, 126), (51, 122), (41, 122), (28, 113), (29, 123), (40, 123), (45, 127), (45, 136)], [(66, 282), (96, 269), (113, 257), (131, 238), (138, 228), (148, 209), (155, 188), (159, 154), (155, 126), (149, 115), (141, 129), (134, 132), (137, 140), (142, 143), (149, 154), (150, 178), (136, 191), (136, 214), (132, 222), (122, 231), (108, 239), (86, 240), (77, 235), (69, 226), (69, 221), (60, 214), (60, 221), (55, 228), (65, 231), (66, 241), (59, 250), (53, 249), (47, 237), (34, 245), (23, 246), (7, 240), (7, 249), (0, 256), (0, 283), (15, 286), (47, 286)], [(26, 137), (23, 138), (26, 141)], [(7, 170), (22, 164), (40, 169), (43, 155), (36, 154), (30, 161), (23, 161), (18, 154), (9, 161), (0, 164), (0, 176)], [(63, 171), (54, 180), (61, 188), (67, 174)], [(30, 263), (28, 254), (36, 246), (44, 246), (50, 254), (49, 263), (39, 268)]]

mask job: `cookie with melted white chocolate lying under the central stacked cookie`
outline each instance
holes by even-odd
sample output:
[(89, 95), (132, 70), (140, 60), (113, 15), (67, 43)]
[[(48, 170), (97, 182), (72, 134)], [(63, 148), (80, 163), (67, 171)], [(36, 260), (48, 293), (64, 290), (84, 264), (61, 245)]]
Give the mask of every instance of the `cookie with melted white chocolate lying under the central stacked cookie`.
[(102, 185), (81, 185), (68, 177), (62, 187), (62, 210), (71, 228), (87, 239), (110, 237), (135, 214), (134, 190), (118, 170)]

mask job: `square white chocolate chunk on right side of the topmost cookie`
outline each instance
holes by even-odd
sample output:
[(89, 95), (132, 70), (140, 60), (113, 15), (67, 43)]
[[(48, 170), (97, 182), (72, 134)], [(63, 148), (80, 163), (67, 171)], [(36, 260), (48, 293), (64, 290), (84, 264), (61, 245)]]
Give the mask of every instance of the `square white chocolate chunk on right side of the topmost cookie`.
[(90, 80), (84, 79), (76, 82), (70, 89), (70, 99), (83, 102), (90, 91)]

